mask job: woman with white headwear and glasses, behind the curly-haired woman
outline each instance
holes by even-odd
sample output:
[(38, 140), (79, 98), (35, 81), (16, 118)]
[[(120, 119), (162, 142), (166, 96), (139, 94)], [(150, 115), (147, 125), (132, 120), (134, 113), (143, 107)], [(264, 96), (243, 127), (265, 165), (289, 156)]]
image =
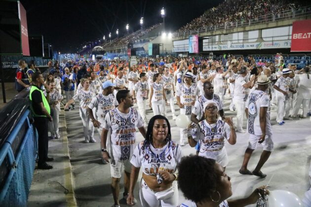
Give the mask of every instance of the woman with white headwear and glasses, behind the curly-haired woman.
[[(225, 139), (230, 144), (235, 144), (236, 134), (231, 118), (225, 121), (218, 119), (218, 104), (206, 101), (203, 104), (205, 120), (196, 126), (194, 133), (189, 133), (188, 140), (191, 147), (200, 141), (199, 156), (216, 160), (223, 168), (229, 163)], [(193, 131), (191, 131), (193, 132)]]

